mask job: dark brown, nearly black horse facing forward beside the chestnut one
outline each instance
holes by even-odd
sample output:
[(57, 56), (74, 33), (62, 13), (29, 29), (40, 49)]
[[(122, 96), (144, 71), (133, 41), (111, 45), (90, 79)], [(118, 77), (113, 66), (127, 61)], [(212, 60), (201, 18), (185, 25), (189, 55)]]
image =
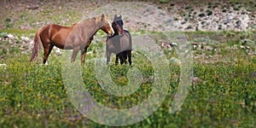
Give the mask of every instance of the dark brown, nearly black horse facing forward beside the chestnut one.
[(108, 36), (106, 50), (107, 50), (107, 63), (110, 61), (111, 53), (116, 55), (115, 64), (127, 63), (127, 56), (129, 64), (131, 65), (131, 34), (123, 28), (122, 15), (114, 15), (112, 27), (114, 34)]

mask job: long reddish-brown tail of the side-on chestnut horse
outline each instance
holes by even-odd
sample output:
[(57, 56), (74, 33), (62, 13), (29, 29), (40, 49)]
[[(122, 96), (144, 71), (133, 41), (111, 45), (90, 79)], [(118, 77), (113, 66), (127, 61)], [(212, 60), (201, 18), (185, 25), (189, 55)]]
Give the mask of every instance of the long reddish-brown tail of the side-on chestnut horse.
[(30, 61), (36, 61), (38, 59), (39, 51), (41, 48), (41, 38), (39, 35), (40, 32), (41, 32), (41, 28), (38, 30), (38, 32), (35, 35), (33, 49), (32, 49), (32, 56), (30, 58)]

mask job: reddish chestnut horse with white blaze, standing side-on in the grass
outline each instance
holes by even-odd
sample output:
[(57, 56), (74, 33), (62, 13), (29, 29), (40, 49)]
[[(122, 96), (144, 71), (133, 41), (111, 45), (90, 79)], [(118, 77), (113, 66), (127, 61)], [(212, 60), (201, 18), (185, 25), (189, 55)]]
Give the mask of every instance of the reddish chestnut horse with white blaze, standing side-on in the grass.
[(60, 49), (73, 49), (72, 62), (75, 61), (79, 50), (81, 50), (81, 62), (84, 63), (86, 50), (99, 29), (109, 35), (114, 33), (108, 17), (105, 15), (83, 20), (72, 26), (55, 24), (44, 26), (36, 33), (30, 61), (37, 59), (41, 42), (44, 47), (44, 64), (54, 46)]

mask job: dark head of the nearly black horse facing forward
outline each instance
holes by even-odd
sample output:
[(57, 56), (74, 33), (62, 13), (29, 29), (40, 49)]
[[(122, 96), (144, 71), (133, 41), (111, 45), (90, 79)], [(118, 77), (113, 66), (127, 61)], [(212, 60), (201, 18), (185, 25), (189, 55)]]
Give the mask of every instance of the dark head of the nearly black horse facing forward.
[(122, 15), (114, 15), (113, 22), (112, 22), (112, 27), (114, 32), (118, 32), (117, 34), (123, 34), (124, 28), (123, 28), (123, 20), (122, 20)]

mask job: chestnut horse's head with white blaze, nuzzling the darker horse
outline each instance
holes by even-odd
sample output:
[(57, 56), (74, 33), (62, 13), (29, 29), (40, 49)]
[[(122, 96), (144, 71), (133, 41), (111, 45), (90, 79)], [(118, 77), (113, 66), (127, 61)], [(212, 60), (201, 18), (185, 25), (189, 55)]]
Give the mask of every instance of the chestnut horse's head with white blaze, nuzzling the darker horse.
[(101, 26), (102, 31), (108, 33), (109, 35), (113, 35), (114, 34), (113, 28), (108, 20), (108, 17), (105, 15), (102, 15), (101, 21), (102, 21), (102, 26)]

